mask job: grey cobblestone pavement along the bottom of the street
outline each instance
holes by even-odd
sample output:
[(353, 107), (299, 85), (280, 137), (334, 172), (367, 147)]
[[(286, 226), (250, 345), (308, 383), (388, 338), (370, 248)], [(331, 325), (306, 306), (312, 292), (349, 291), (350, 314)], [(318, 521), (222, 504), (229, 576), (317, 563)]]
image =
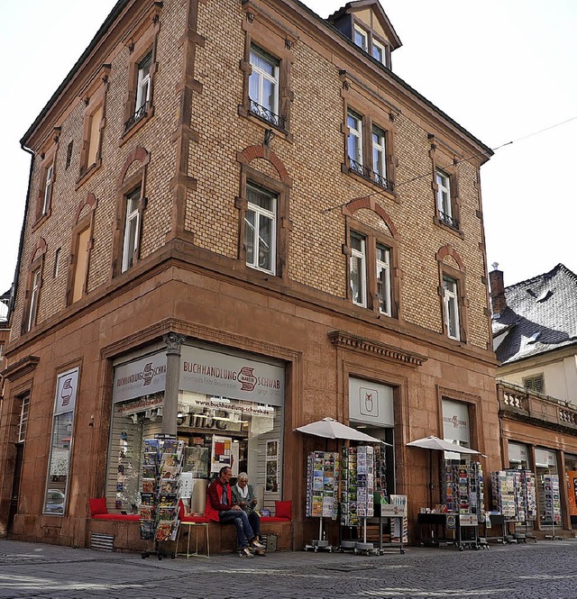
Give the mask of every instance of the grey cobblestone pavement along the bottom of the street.
[(164, 558), (0, 540), (0, 599), (576, 599), (577, 540), (362, 557)]

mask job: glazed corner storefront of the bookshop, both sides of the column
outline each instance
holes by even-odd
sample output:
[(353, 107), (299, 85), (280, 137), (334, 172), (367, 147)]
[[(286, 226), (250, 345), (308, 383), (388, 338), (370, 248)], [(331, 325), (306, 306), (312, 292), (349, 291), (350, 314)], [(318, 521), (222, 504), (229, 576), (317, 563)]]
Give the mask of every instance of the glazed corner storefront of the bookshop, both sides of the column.
[[(181, 496), (205, 511), (206, 486), (223, 466), (247, 472), (263, 508), (282, 494), (285, 368), (265, 358), (183, 345), (178, 439), (185, 443)], [(142, 440), (162, 431), (165, 350), (117, 364), (108, 451), (109, 508), (136, 513), (142, 491)]]

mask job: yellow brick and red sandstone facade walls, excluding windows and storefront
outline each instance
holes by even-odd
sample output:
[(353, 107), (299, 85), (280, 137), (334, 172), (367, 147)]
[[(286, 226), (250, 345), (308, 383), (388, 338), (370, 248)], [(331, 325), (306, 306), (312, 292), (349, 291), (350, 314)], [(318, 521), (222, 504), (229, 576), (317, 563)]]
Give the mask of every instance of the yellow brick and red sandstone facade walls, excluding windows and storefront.
[[(303, 518), (303, 464), (314, 442), (292, 430), (327, 415), (346, 422), (349, 375), (395, 387), (397, 492), (408, 493), (412, 517), (425, 501), (427, 462), (405, 443), (427, 434), (442, 436), (442, 397), (472, 406), (472, 439), (489, 456), (488, 464), (497, 467), (499, 426), (495, 363), (488, 350), (479, 183), (483, 153), (490, 150), (290, 0), (244, 5), (237, 0), (122, 0), (114, 11), (99, 43), (24, 138), (36, 153), (31, 204), (41, 194), (41, 151), (55, 151), (55, 177), (50, 215), (37, 224), (32, 209), (26, 215), (8, 349), (4, 410), (9, 418), (0, 425), (0, 462), (6, 464), (0, 473), (0, 531), (9, 528), (7, 502), (14, 481), (10, 443), (23, 389), (32, 393), (25, 482), (10, 528), (21, 538), (85, 544), (87, 498), (101, 494), (104, 486), (112, 360), (158, 343), (169, 331), (286, 364), (284, 451), (291, 458), (285, 459), (283, 495), (296, 506), (295, 547), (311, 527)], [(153, 113), (124, 133), (131, 50), (141, 51), (142, 39), (150, 39), (154, 48)], [(275, 131), (268, 144), (264, 136), (270, 123), (243, 113), (247, 40), (266, 41), (282, 62), (281, 101), (289, 124), (286, 132)], [(102, 65), (110, 65), (102, 161), (78, 183), (85, 132), (82, 90)], [(388, 128), (394, 193), (344, 172), (347, 105), (356, 110), (366, 106), (373, 122)], [(72, 159), (66, 168), (70, 141)], [(460, 231), (434, 222), (433, 143), (457, 162)], [(123, 182), (139, 172), (145, 173), (146, 198), (139, 259), (120, 274), (114, 270), (123, 226), (118, 205)], [(279, 208), (284, 214), (279, 277), (248, 268), (242, 259), (242, 181), (253, 177), (282, 190), (279, 202), (286, 203)], [(88, 194), (96, 198), (96, 207), (87, 293), (67, 306), (70, 231), (78, 215), (89, 210), (77, 213)], [(359, 198), (368, 198), (362, 208), (345, 208)], [(398, 314), (393, 318), (376, 318), (378, 314), (352, 304), (347, 296), (343, 248), (351, 222), (397, 244), (393, 276)], [(30, 295), (26, 281), (40, 240), (46, 251), (38, 314), (32, 331), (23, 334)], [(450, 248), (442, 262), (459, 270), (466, 289), (464, 342), (444, 334), (437, 259), (442, 248)], [(57, 250), (61, 266), (55, 276)], [(331, 331), (348, 331), (424, 360), (408, 366), (398, 358), (333, 343)], [(74, 495), (69, 515), (60, 518), (41, 515), (42, 496), (33, 489), (43, 488), (46, 479), (46, 423), (55, 376), (70, 365), (81, 366), (71, 467)]]

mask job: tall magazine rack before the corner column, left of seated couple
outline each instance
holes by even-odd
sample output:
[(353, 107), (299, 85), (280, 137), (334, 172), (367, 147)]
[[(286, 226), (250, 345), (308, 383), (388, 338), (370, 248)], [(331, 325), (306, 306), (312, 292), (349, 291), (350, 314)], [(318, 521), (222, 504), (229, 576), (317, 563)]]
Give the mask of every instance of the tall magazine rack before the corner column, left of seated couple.
[(184, 442), (155, 435), (142, 443), (142, 490), (139, 527), (142, 540), (153, 541), (153, 549), (142, 551), (142, 559), (176, 558), (176, 550), (165, 549), (179, 531), (179, 476)]

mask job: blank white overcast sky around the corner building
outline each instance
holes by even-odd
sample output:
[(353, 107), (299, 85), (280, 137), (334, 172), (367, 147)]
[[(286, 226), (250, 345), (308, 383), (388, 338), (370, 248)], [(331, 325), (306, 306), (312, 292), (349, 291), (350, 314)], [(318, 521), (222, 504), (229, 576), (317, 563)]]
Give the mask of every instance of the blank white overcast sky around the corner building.
[[(14, 278), (28, 185), (30, 156), (19, 140), (114, 4), (21, 0), (3, 6), (0, 293)], [(305, 4), (326, 17), (345, 0)], [(499, 262), (505, 285), (559, 262), (577, 272), (577, 2), (381, 5), (403, 42), (392, 56), (395, 73), (490, 148), (515, 141), (481, 169), (489, 264)]]

